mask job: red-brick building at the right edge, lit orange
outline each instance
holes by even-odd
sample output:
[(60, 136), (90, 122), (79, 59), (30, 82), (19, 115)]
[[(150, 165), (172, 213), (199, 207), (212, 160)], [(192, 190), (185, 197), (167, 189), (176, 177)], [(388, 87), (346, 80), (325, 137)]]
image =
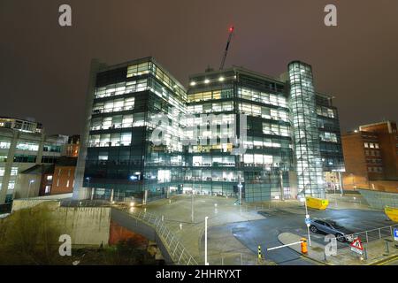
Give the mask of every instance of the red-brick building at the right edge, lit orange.
[(345, 189), (370, 188), (398, 192), (398, 133), (396, 122), (359, 126), (342, 135)]

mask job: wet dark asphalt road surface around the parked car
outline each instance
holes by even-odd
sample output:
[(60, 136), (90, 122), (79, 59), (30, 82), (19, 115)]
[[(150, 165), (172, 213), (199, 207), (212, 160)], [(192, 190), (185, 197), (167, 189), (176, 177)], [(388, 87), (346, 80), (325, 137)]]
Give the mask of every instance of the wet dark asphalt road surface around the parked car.
[[(302, 211), (303, 212), (303, 211)], [(266, 251), (268, 248), (279, 246), (279, 233), (290, 232), (307, 235), (307, 227), (304, 223), (304, 214), (297, 214), (287, 210), (264, 210), (262, 213), (265, 219), (254, 220), (249, 222), (241, 222), (228, 225), (232, 229), (236, 239), (241, 241), (248, 249), (254, 253), (257, 251), (258, 245), (261, 245), (263, 255), (266, 259), (272, 260), (280, 265), (312, 265), (316, 262), (303, 258), (293, 249), (282, 248), (272, 251)], [(310, 210), (310, 218), (329, 218), (338, 222), (354, 233), (371, 230), (374, 228), (390, 226), (391, 221), (383, 212), (373, 210)], [(224, 227), (226, 228), (226, 227)], [(223, 226), (211, 227), (212, 229), (223, 229)], [(311, 233), (311, 241), (318, 241), (325, 244), (325, 235)], [(341, 249), (347, 244), (338, 243)]]

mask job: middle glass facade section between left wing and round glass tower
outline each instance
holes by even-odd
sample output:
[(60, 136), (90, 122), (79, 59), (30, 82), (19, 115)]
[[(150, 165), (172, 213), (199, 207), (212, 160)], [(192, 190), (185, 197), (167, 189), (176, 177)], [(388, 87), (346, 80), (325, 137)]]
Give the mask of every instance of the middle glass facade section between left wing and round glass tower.
[[(216, 143), (188, 147), (184, 190), (204, 195), (235, 195), (239, 180), (247, 202), (288, 198), (293, 170), (287, 94), (282, 83), (233, 68), (190, 78), (188, 112), (216, 114), (207, 134)], [(233, 154), (231, 141), (239, 119), (247, 119), (244, 154)], [(199, 130), (199, 126), (197, 126)]]

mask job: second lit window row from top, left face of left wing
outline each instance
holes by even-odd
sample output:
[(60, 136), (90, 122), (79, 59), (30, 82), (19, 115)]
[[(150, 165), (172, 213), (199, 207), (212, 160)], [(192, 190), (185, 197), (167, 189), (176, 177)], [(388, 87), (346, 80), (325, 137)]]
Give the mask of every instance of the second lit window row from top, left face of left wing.
[(121, 96), (124, 94), (144, 91), (148, 89), (148, 80), (131, 80), (112, 83), (106, 87), (96, 88), (96, 98), (108, 96)]

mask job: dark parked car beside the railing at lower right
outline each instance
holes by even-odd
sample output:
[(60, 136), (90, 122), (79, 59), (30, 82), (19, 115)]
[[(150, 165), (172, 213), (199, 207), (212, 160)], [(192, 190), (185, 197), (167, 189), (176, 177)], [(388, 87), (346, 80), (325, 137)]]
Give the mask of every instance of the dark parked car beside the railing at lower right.
[(310, 220), (310, 231), (312, 233), (323, 232), (327, 234), (333, 234), (337, 241), (341, 242), (351, 242), (354, 241), (353, 232), (344, 228), (343, 226), (338, 225), (333, 220), (328, 219), (311, 219)]

